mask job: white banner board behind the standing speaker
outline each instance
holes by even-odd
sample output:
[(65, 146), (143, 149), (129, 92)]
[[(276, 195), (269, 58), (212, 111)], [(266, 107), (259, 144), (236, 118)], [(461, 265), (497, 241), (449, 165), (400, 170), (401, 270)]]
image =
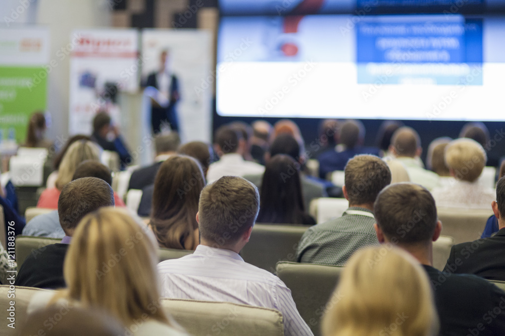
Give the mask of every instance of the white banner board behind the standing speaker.
[[(156, 72), (160, 54), (170, 51), (170, 66), (179, 80), (181, 99), (177, 103), (183, 142), (211, 141), (212, 84), (201, 83), (212, 76), (211, 33), (205, 30), (145, 29), (142, 31), (142, 79)], [(212, 81), (211, 81), (212, 83)]]

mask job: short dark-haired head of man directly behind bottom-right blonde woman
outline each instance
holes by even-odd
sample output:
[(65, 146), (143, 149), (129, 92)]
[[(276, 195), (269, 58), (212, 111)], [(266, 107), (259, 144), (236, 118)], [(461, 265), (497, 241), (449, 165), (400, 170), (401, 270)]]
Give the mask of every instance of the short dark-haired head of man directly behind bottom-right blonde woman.
[(375, 201), (374, 215), (379, 242), (408, 251), (427, 253), (442, 231), (435, 200), (419, 184), (395, 183), (384, 188)]

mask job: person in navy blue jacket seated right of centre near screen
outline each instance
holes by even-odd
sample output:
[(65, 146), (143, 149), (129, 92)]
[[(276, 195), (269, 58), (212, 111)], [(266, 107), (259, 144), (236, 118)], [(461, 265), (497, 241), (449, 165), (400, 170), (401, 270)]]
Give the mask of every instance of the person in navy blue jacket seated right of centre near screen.
[(328, 151), (319, 156), (319, 177), (328, 178), (328, 173), (335, 170), (344, 170), (347, 161), (358, 154), (371, 154), (379, 156), (379, 150), (364, 147), (365, 127), (358, 120), (347, 120), (338, 132), (337, 150)]

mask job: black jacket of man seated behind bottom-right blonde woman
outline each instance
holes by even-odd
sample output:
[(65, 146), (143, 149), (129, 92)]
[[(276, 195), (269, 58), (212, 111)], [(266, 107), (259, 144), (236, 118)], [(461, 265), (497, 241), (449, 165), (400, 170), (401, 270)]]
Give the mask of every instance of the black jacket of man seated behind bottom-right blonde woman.
[(440, 336), (505, 335), (505, 292), (473, 275), (423, 267), (435, 294)]

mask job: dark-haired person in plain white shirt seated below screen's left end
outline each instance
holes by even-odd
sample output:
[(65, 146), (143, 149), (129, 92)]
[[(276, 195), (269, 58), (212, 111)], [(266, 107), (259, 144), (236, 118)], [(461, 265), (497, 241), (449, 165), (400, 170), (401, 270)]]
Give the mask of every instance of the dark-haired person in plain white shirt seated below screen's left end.
[(265, 167), (256, 162), (245, 161), (242, 157), (244, 151), (245, 141), (240, 132), (228, 125), (219, 127), (215, 137), (215, 152), (219, 161), (209, 166), (207, 181), (210, 183), (222, 176), (263, 174)]

